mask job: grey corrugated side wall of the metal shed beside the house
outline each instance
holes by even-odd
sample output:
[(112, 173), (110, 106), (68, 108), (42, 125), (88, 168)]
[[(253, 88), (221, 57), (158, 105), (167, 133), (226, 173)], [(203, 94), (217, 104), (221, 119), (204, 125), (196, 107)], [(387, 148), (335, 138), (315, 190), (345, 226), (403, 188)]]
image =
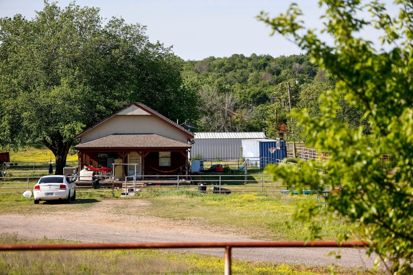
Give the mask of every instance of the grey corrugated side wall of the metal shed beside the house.
[(236, 159), (241, 157), (242, 139), (195, 139), (190, 157), (202, 159)]

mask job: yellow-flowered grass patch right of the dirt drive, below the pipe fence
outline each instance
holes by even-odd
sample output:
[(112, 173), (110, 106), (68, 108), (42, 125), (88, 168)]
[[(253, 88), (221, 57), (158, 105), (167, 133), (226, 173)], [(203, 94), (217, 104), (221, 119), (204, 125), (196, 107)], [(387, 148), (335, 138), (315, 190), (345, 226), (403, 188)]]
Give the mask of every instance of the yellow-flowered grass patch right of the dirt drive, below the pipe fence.
[[(293, 195), (279, 193), (138, 193), (138, 197), (152, 203), (154, 216), (170, 219), (199, 217), (215, 226), (231, 228), (240, 233), (248, 232), (263, 240), (303, 240), (309, 230), (301, 223), (291, 221), (297, 205), (317, 200), (316, 195)], [(173, 206), (173, 211), (170, 211)], [(323, 217), (315, 220), (319, 225)], [(323, 240), (335, 240), (337, 233), (348, 233), (351, 223), (335, 219), (322, 230)]]

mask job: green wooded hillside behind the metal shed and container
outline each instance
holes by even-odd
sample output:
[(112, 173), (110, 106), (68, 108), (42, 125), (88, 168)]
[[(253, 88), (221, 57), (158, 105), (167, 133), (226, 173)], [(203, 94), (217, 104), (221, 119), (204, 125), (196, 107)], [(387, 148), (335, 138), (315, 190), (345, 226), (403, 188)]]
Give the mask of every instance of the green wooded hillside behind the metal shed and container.
[[(287, 83), (290, 83), (292, 108), (307, 108), (312, 116), (321, 115), (320, 96), (335, 89), (334, 76), (313, 65), (305, 54), (275, 58), (256, 54), (210, 56), (200, 61), (185, 61), (181, 75), (185, 90), (197, 94), (197, 109), (191, 121), (197, 127), (195, 132), (265, 129), (268, 136), (285, 135), (292, 127)], [(361, 113), (349, 106), (344, 96), (337, 118), (356, 127)]]

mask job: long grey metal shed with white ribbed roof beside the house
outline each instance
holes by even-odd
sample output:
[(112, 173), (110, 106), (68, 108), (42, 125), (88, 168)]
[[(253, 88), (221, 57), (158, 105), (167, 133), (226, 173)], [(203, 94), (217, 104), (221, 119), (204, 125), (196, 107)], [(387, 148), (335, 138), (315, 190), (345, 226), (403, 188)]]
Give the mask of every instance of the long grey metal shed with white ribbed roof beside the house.
[(266, 139), (264, 132), (194, 133), (190, 157), (202, 159), (236, 159), (241, 156), (243, 139)]

